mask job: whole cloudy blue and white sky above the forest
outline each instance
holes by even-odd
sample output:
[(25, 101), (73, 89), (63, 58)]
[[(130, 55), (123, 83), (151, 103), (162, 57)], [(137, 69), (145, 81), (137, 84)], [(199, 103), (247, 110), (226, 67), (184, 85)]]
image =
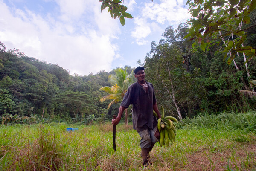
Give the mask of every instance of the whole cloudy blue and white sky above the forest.
[(134, 18), (122, 26), (99, 0), (0, 0), (0, 41), (70, 75), (137, 67), (166, 27), (190, 18), (186, 1), (124, 0)]

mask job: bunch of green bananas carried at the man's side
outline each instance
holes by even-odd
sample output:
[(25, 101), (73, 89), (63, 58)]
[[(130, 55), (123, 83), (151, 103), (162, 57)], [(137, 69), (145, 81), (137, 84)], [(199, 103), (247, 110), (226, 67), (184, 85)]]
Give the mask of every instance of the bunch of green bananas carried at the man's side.
[[(155, 111), (153, 111), (153, 113), (154, 113), (154, 116), (158, 118), (157, 113)], [(158, 118), (157, 128), (160, 133), (159, 143), (160, 143), (160, 146), (162, 147), (163, 145), (169, 146), (169, 140), (171, 142), (175, 141), (176, 127), (172, 121), (178, 123), (178, 120), (172, 116), (164, 117), (163, 106), (161, 106), (161, 113), (162, 113), (161, 118)]]

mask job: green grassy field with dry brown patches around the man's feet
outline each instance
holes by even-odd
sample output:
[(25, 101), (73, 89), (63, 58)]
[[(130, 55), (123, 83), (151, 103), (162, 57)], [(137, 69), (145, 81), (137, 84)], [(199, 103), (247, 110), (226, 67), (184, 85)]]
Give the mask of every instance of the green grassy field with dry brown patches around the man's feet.
[[(66, 132), (67, 127), (78, 127)], [(0, 126), (0, 170), (7, 171), (256, 171), (256, 135), (244, 130), (178, 129), (168, 147), (157, 143), (143, 167), (132, 125)]]

